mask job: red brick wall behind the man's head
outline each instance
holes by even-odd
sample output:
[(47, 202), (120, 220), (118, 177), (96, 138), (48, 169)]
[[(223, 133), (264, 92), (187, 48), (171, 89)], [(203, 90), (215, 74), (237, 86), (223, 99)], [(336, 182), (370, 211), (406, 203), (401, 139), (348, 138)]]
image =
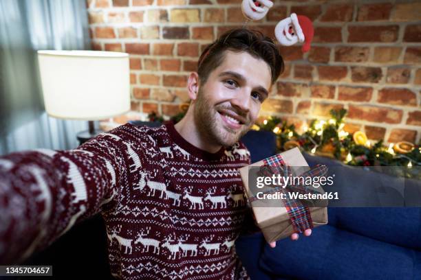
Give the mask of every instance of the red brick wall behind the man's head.
[[(346, 108), (345, 130), (369, 139), (421, 137), (421, 2), (279, 1), (266, 19), (248, 23), (274, 38), (291, 12), (314, 22), (312, 49), (281, 47), (285, 72), (261, 116), (298, 126)], [(87, 1), (92, 47), (130, 54), (133, 113), (174, 115), (187, 100), (186, 80), (203, 47), (245, 19), (240, 0)]]

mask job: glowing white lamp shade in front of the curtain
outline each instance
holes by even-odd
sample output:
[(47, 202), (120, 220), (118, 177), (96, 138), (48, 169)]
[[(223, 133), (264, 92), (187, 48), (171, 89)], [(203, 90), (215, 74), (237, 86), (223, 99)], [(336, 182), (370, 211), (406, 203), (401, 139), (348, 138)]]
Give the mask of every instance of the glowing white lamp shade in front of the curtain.
[(130, 110), (129, 55), (112, 51), (38, 51), (45, 110), (94, 121)]

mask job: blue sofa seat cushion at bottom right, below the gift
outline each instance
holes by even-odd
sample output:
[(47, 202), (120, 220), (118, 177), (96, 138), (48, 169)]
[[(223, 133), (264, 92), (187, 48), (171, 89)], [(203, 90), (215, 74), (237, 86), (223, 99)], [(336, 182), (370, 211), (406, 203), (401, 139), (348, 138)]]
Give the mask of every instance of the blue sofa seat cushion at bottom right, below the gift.
[(420, 279), (420, 254), (322, 226), (296, 242), (285, 239), (276, 248), (265, 246), (259, 265), (280, 279)]

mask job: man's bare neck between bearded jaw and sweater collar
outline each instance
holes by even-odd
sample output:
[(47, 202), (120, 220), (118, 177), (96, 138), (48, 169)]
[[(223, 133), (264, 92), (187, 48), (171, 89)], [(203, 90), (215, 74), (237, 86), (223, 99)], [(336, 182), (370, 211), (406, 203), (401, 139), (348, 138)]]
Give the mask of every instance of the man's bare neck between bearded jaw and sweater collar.
[(210, 143), (209, 139), (200, 135), (195, 123), (192, 106), (191, 108), (188, 108), (188, 111), (182, 120), (175, 124), (175, 130), (177, 130), (188, 143), (191, 143), (195, 147), (206, 152), (215, 153), (222, 148), (222, 145)]

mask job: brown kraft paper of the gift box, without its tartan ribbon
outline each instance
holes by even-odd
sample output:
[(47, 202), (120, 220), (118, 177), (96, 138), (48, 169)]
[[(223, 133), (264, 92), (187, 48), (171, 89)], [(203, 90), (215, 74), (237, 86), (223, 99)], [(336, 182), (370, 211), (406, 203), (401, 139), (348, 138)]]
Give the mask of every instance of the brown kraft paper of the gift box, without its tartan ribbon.
[[(300, 174), (310, 170), (310, 167), (305, 161), (299, 148), (293, 148), (291, 150), (281, 152), (279, 155), (285, 165), (290, 165), (292, 169), (292, 176), (299, 176)], [(273, 158), (273, 156), (268, 159), (271, 158)], [(268, 159), (266, 159), (266, 162)], [(252, 163), (251, 165), (242, 167), (239, 170), (244, 183), (246, 196), (249, 201), (250, 197), (252, 197), (249, 188), (250, 186), (248, 184), (249, 167), (261, 167), (263, 165), (265, 165), (265, 160)], [(257, 170), (257, 168), (255, 168), (255, 170)], [(324, 193), (321, 187), (318, 189), (319, 192)], [(266, 203), (267, 201), (268, 200), (254, 200), (250, 202), (257, 226), (261, 229), (266, 241), (274, 242), (276, 240), (281, 240), (296, 232), (294, 231), (294, 226), (290, 220), (290, 214), (288, 213), (287, 208), (284, 207), (283, 200), (274, 200), (274, 202), (270, 202), (270, 206)], [(276, 205), (274, 205), (274, 203), (276, 203)], [(309, 209), (313, 227), (327, 224), (327, 207), (309, 207)]]

